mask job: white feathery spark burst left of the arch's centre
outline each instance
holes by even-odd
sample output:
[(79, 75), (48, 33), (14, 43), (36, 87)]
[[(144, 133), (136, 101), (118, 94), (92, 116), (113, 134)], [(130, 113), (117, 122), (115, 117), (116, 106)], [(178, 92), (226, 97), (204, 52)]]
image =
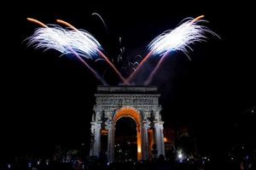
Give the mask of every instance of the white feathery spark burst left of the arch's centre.
[(28, 37), (28, 46), (34, 48), (55, 49), (61, 54), (73, 54), (75, 51), (80, 56), (93, 59), (102, 46), (88, 31), (68, 30), (56, 25), (40, 27)]

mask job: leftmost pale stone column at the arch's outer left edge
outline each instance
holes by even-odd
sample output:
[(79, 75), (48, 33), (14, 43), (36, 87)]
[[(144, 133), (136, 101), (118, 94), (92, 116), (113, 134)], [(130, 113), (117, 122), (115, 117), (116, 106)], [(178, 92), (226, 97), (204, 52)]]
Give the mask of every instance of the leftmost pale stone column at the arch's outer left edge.
[(101, 135), (102, 135), (102, 122), (91, 122), (91, 133), (94, 136), (93, 144), (90, 148), (90, 156), (100, 156), (101, 151)]

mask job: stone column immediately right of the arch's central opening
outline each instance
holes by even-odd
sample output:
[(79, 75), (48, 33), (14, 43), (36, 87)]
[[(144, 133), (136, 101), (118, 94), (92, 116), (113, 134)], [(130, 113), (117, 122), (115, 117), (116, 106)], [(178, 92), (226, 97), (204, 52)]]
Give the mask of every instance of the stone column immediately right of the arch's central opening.
[(148, 160), (148, 127), (149, 122), (143, 121), (142, 127), (142, 137), (143, 137), (143, 144), (142, 144), (142, 153), (143, 153), (143, 160)]

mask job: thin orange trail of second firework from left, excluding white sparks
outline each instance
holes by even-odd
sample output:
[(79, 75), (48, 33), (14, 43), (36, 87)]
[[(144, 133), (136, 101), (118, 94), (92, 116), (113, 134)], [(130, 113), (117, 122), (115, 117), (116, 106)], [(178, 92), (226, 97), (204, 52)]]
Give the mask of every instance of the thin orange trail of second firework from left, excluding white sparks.
[[(65, 26), (68, 26), (70, 28), (72, 28), (73, 30), (75, 31), (79, 31), (76, 27), (72, 26), (71, 24), (69, 24), (68, 22), (64, 21), (64, 20), (56, 20), (56, 22), (62, 24), (62, 25), (65, 25)], [(116, 74), (119, 76), (119, 78), (122, 80), (122, 82), (127, 85), (128, 82), (125, 80), (125, 78), (121, 75), (121, 73), (117, 70), (117, 68), (113, 65), (113, 63), (108, 59), (108, 57), (102, 53), (101, 50), (99, 49), (96, 49), (97, 53), (100, 54), (100, 56), (102, 57), (102, 59), (105, 59), (108, 63), (108, 65), (110, 65), (110, 67), (113, 68), (113, 71), (116, 72)]]

